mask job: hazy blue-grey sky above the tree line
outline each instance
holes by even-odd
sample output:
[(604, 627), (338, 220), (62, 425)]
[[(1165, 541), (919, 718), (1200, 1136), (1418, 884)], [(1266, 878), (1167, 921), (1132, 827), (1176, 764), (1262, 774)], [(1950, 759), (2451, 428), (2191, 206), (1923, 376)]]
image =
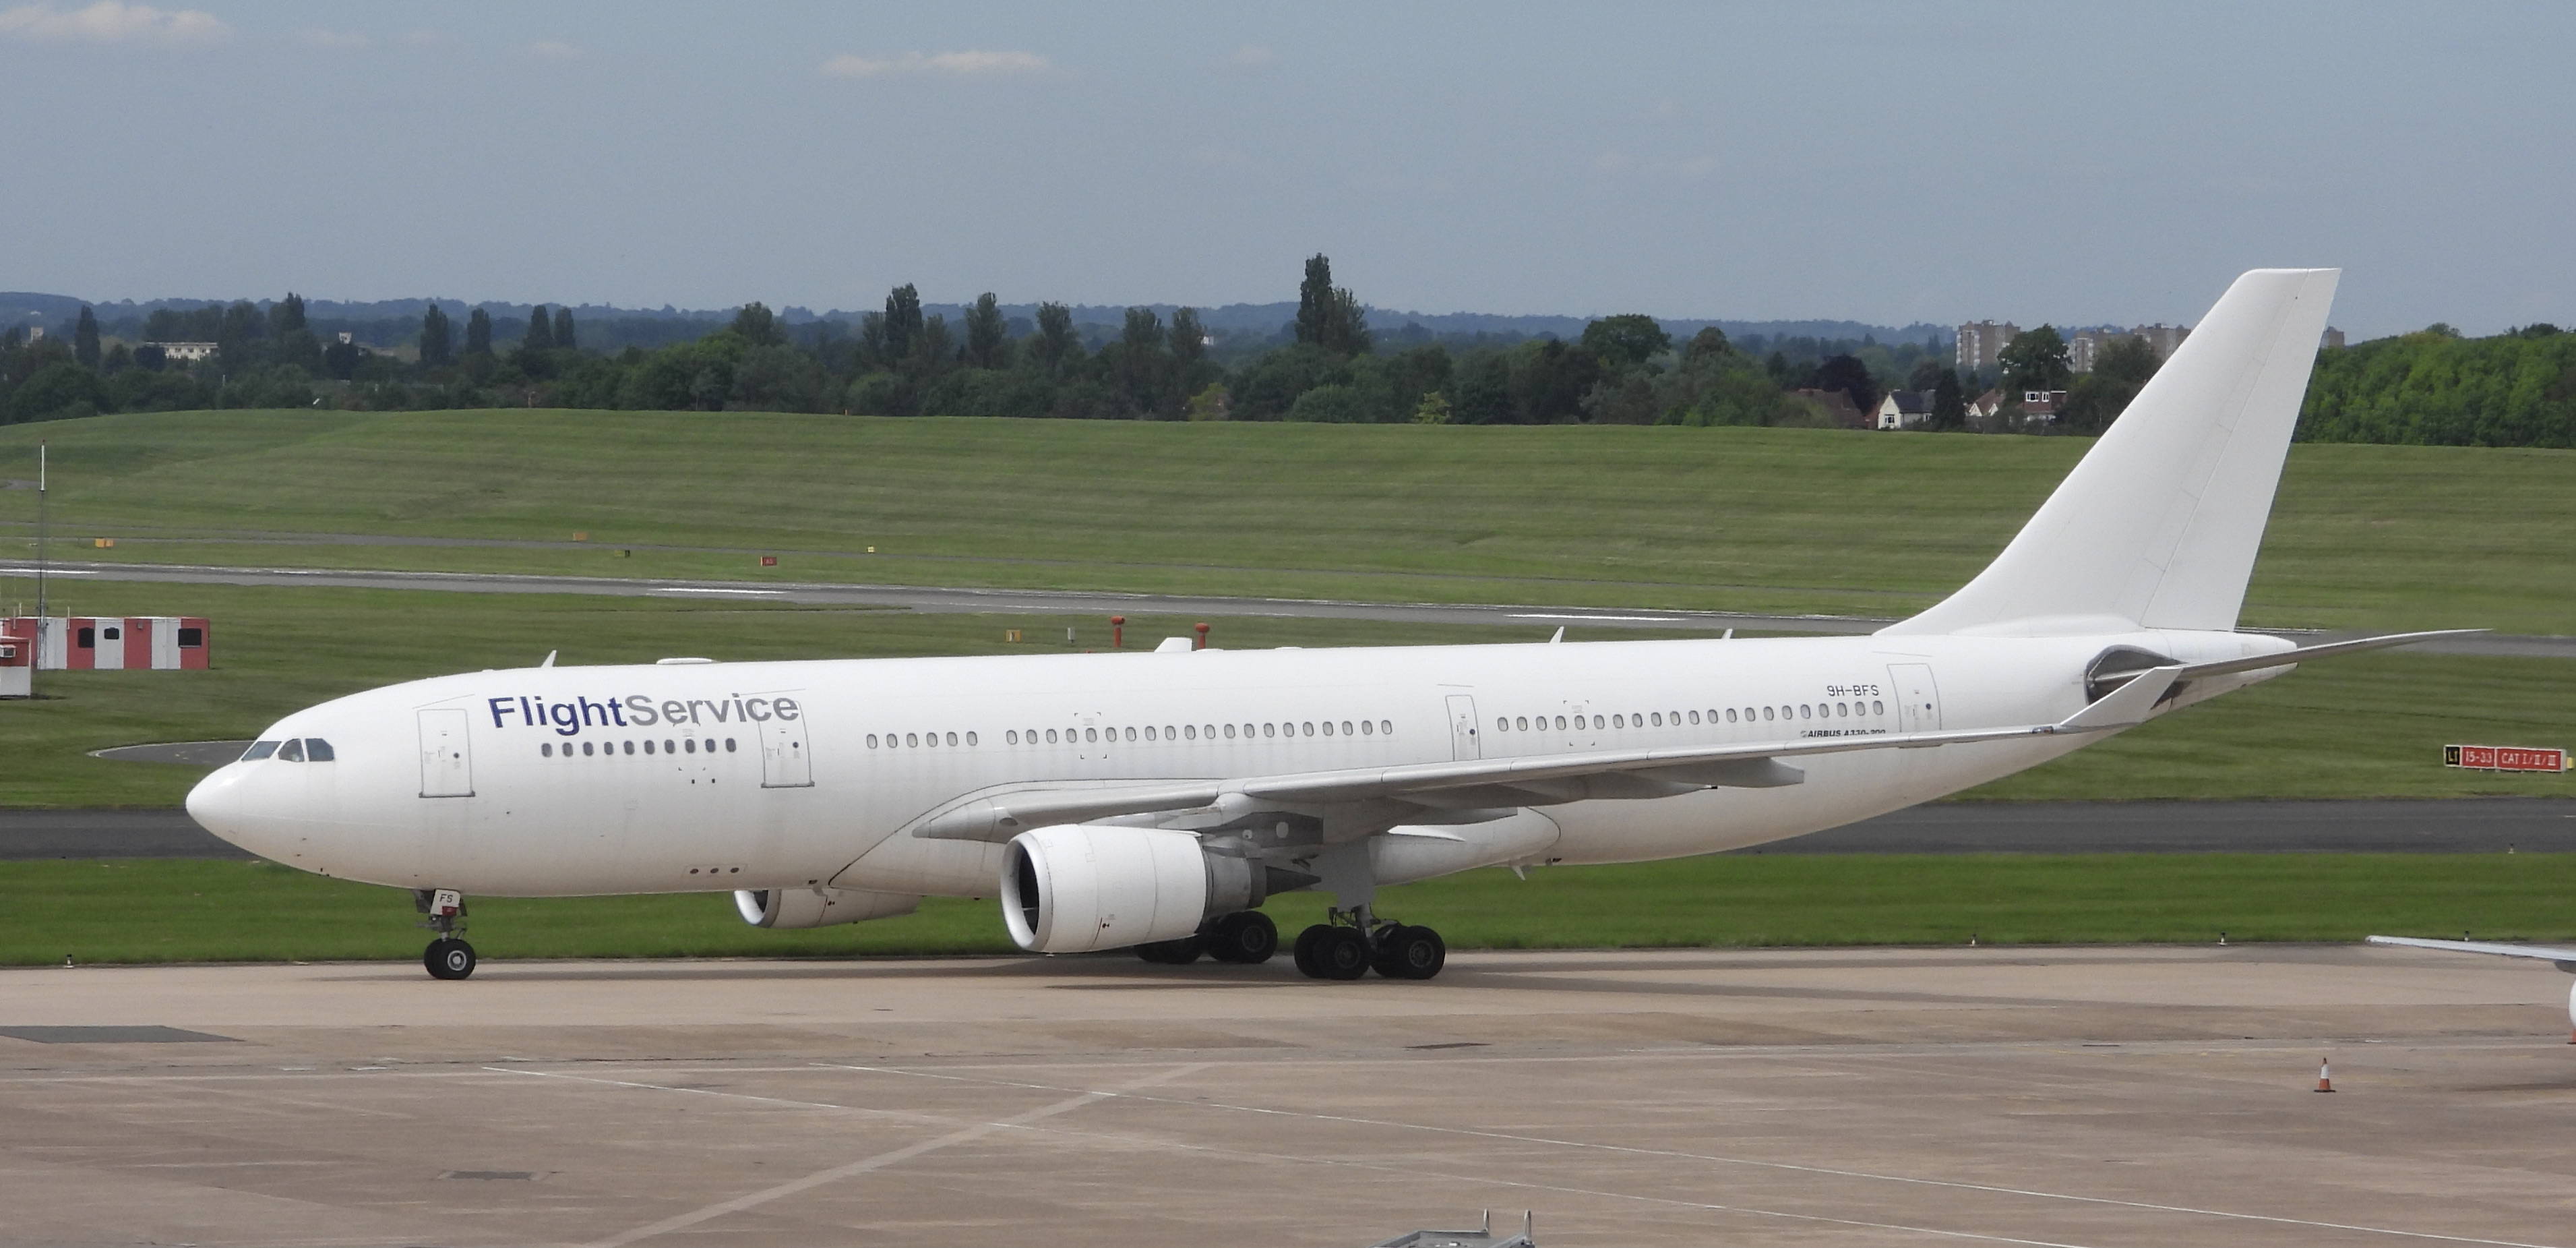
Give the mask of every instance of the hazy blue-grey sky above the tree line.
[[(185, 8), (183, 8), (185, 5)], [(2576, 322), (2576, 5), (0, 0), (0, 289)]]

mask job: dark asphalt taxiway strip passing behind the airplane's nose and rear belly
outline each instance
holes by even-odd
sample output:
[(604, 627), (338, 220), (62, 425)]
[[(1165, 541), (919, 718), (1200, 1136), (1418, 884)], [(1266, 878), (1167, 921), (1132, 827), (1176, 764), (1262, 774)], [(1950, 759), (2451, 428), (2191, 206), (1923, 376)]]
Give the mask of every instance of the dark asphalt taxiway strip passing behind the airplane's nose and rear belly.
[[(232, 745), (232, 743), (227, 743)], [(1739, 853), (2576, 853), (2576, 799), (1953, 802)], [(247, 859), (185, 810), (0, 810), (0, 859)]]

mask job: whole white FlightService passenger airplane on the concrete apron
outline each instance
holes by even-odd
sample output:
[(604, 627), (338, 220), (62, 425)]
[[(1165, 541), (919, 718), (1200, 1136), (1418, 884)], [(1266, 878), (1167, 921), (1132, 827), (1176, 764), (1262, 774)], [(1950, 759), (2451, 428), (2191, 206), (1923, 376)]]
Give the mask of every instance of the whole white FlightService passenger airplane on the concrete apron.
[(2236, 632), (2336, 271), (2218, 299), (2020, 536), (1870, 637), (662, 660), (412, 681), (289, 714), (188, 794), (307, 872), (466, 895), (729, 890), (762, 928), (999, 897), (1020, 949), (1262, 962), (1283, 890), (1324, 980), (1427, 980), (1376, 890), (1674, 859), (1901, 810), (2244, 688), (2437, 634)]

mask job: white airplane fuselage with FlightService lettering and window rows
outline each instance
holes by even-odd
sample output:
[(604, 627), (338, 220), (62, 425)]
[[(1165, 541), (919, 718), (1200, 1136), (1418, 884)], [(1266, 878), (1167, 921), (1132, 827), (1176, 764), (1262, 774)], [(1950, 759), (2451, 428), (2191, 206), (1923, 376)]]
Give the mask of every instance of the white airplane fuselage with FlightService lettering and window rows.
[[(191, 799), (309, 872), (479, 895), (835, 887), (994, 892), (1002, 846), (909, 835), (1023, 786), (2053, 722), (2112, 647), (2287, 650), (2233, 632), (1824, 637), (665, 663), (443, 676), (296, 712)], [(2267, 673), (2269, 676), (2269, 673)], [(2195, 683), (2164, 709), (2257, 676)], [(1584, 799), (1381, 838), (1376, 882), (1643, 861), (1834, 828), (2097, 737), (1801, 758), (1803, 781)]]

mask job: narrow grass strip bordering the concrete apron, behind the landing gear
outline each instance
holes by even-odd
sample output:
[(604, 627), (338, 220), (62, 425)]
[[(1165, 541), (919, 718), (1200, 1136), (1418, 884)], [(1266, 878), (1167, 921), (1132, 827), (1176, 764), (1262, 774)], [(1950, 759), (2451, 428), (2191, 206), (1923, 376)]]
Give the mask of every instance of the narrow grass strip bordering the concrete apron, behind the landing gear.
[[(2576, 936), (2576, 853), (1713, 856), (1468, 872), (1381, 895), (1455, 949)], [(1291, 936), (1324, 897), (1275, 897)], [(407, 892), (237, 861), (0, 864), (0, 964), (420, 957)], [(760, 931), (729, 895), (474, 897), (484, 957), (1010, 954), (989, 900)], [(1123, 954), (1121, 954), (1123, 957)]]

